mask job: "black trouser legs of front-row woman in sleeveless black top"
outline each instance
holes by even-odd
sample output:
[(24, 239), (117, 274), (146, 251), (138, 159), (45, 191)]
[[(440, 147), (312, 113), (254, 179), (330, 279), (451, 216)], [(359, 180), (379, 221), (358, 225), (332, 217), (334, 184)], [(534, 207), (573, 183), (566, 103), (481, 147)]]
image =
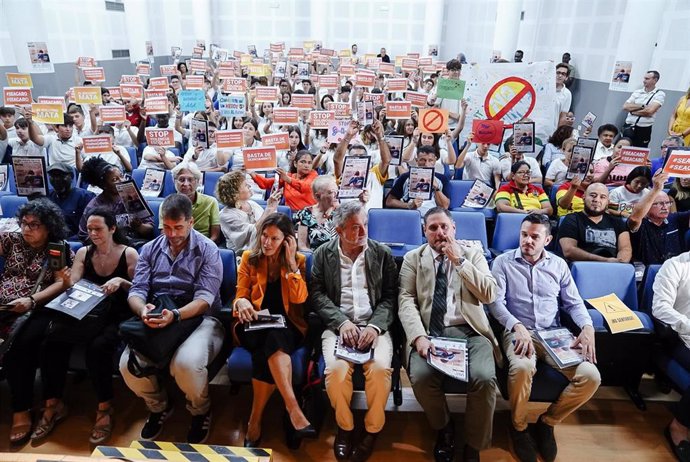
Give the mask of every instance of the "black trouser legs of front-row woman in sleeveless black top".
[[(86, 370), (99, 403), (113, 399), (115, 372), (113, 357), (120, 344), (118, 328), (117, 323), (107, 324), (94, 339), (86, 344)], [(44, 399), (62, 399), (73, 346), (71, 343), (46, 342), (41, 355)]]

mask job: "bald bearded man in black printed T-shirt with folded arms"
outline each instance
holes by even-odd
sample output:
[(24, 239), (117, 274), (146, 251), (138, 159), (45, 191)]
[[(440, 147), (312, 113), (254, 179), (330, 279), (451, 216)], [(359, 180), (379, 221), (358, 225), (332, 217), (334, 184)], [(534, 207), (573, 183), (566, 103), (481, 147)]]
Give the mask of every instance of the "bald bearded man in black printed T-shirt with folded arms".
[(558, 228), (563, 256), (568, 261), (630, 262), (630, 233), (620, 218), (606, 214), (608, 188), (592, 183), (584, 202), (584, 211), (567, 215)]

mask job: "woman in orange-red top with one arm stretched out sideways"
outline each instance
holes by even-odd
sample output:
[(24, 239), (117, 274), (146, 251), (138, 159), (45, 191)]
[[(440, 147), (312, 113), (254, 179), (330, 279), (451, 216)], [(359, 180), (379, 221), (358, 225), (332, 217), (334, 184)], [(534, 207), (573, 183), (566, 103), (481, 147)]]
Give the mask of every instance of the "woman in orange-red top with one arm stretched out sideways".
[[(311, 192), (311, 183), (319, 174), (311, 168), (311, 165), (311, 153), (307, 150), (301, 150), (297, 152), (294, 160), (290, 163), (290, 173), (282, 168), (276, 169), (280, 177), (280, 187), (284, 188), (285, 205), (290, 207), (293, 212), (316, 204), (316, 199)], [(255, 172), (250, 172), (249, 175), (261, 189), (271, 189), (275, 182), (274, 178), (266, 178)]]

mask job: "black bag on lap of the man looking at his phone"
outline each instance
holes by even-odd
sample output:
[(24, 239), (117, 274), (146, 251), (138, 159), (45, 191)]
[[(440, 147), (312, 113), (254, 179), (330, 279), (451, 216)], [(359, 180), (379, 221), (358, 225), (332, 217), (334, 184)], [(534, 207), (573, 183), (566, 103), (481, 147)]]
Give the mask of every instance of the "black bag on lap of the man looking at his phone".
[[(151, 313), (161, 313), (163, 309), (178, 308), (178, 303), (169, 295), (157, 295)], [(135, 377), (155, 375), (165, 369), (177, 348), (187, 340), (201, 322), (202, 316), (173, 322), (162, 329), (148, 327), (138, 316), (120, 324), (120, 337), (129, 346), (127, 369)], [(142, 364), (138, 357), (146, 364)]]

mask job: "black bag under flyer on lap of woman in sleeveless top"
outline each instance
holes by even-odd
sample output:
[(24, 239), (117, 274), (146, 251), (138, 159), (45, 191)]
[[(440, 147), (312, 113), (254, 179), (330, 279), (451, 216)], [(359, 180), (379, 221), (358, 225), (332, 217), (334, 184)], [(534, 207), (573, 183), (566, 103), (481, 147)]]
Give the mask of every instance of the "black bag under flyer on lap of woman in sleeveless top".
[(48, 342), (80, 344), (93, 340), (100, 334), (110, 320), (112, 298), (106, 297), (82, 319), (75, 319), (65, 313), (55, 311), (48, 324)]

